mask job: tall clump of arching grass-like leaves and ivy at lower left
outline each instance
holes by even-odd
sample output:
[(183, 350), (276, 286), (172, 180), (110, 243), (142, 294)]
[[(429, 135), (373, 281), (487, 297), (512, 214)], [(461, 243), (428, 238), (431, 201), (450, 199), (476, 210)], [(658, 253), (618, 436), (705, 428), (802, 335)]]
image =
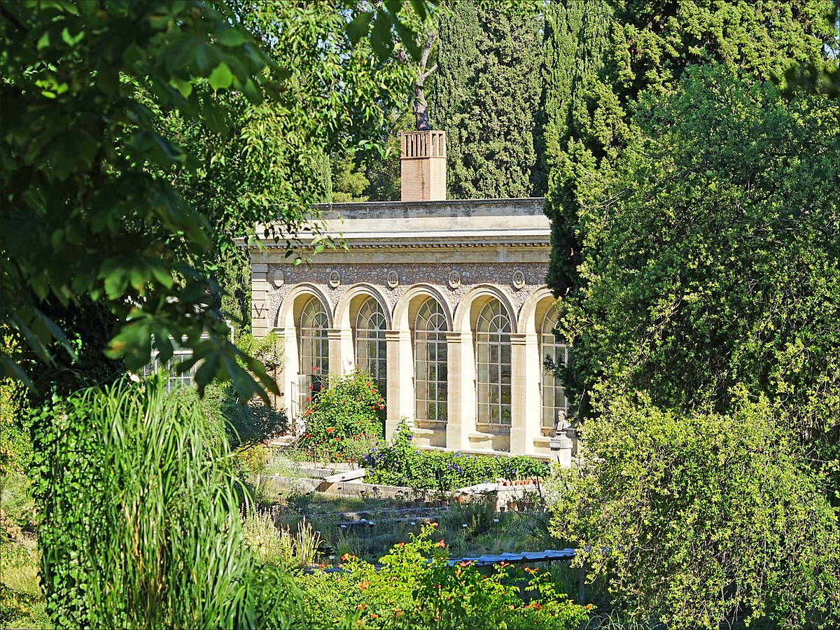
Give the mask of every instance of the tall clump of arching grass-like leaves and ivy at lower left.
[(226, 441), (160, 376), (56, 400), (36, 426), (56, 626), (255, 627), (287, 615), (294, 591), (242, 540)]

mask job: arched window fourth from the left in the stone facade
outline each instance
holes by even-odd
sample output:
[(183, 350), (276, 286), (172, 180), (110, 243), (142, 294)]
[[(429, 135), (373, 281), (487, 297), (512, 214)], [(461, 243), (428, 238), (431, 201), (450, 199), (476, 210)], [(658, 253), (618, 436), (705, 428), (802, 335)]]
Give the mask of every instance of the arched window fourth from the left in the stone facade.
[(476, 420), (511, 424), (511, 320), (498, 300), (487, 302), (475, 325)]

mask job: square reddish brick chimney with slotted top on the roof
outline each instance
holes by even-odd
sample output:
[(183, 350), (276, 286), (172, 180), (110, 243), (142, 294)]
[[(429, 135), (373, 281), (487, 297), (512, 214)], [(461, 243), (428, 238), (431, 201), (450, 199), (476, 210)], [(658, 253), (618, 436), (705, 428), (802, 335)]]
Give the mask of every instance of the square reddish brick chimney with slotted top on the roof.
[(400, 150), (401, 201), (445, 200), (446, 132), (403, 132)]

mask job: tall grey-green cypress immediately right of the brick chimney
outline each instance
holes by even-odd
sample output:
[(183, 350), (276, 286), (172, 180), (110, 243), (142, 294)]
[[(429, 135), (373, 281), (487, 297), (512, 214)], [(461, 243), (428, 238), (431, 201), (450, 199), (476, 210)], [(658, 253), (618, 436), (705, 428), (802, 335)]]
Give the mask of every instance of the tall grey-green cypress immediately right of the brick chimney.
[(441, 18), (429, 118), (447, 132), (452, 198), (529, 197), (537, 165), (541, 15), (451, 3)]

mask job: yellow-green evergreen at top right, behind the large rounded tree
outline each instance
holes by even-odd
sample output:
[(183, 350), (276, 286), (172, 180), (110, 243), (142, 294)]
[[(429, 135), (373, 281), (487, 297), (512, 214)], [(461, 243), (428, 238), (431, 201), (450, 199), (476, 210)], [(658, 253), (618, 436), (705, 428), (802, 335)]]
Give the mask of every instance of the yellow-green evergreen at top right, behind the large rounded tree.
[(548, 45), (559, 55), (547, 57), (541, 135), (552, 219), (548, 282), (558, 295), (584, 284), (582, 243), (597, 223), (591, 226), (583, 208), (608, 196), (612, 164), (629, 140), (625, 121), (640, 96), (669, 92), (685, 68), (706, 63), (780, 84), (788, 71), (807, 66), (837, 82), (831, 0), (569, 1), (549, 5), (548, 13)]

